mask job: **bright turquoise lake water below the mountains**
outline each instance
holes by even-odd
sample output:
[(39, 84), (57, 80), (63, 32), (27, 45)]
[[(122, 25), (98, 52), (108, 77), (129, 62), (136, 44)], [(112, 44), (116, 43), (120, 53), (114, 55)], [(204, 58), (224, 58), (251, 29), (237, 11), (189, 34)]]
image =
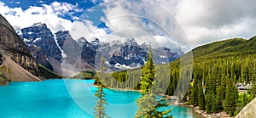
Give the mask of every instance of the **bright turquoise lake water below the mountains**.
[[(93, 81), (49, 80), (11, 82), (0, 87), (0, 117), (93, 117), (96, 104)], [(135, 115), (135, 100), (140, 94), (105, 89), (107, 113), (113, 118), (131, 118)], [(187, 107), (174, 107), (174, 118), (196, 118)]]

